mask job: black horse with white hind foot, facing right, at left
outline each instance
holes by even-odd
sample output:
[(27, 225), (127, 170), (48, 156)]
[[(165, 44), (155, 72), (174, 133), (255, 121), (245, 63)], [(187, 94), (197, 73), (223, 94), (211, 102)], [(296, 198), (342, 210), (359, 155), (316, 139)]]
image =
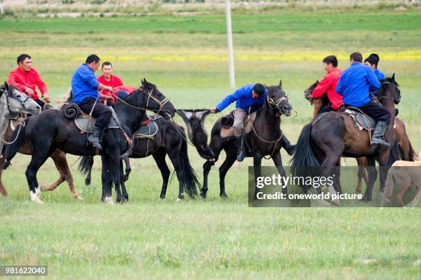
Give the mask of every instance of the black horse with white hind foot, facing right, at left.
[[(45, 110), (43, 113), (31, 117), (22, 132), (14, 133), (17, 141), (6, 149), (7, 161), (10, 161), (17, 150), (29, 141), (32, 148), (32, 159), (25, 172), (30, 188), (31, 200), (42, 203), (36, 173), (45, 160), (56, 149), (79, 156), (100, 154), (102, 157), (102, 198), (112, 203), (111, 189), (116, 189), (116, 201), (127, 202), (125, 184), (122, 182), (122, 164), (120, 155), (129, 149), (127, 135), (133, 135), (139, 128), (144, 110), (155, 110), (163, 117), (175, 115), (175, 108), (171, 102), (156, 88), (155, 84), (142, 80), (140, 89), (127, 97), (125, 102), (118, 102), (114, 110), (120, 122), (120, 129), (106, 129), (102, 135), (104, 149), (99, 153), (87, 137), (80, 133), (74, 121), (67, 119), (61, 110)], [(122, 191), (120, 190), (120, 185)]]

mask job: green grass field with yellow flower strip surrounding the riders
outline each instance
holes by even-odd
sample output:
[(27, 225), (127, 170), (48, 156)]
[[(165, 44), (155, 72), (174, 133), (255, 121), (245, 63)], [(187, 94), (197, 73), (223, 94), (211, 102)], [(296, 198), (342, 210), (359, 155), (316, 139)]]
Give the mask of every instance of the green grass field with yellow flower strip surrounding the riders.
[[(224, 32), (222, 15), (2, 19), (0, 77), (6, 79), (19, 54), (31, 54), (58, 98), (76, 67), (96, 53), (114, 62), (127, 84), (138, 86), (145, 77), (177, 108), (210, 108), (231, 91)], [(234, 14), (233, 32), (236, 86), (282, 78), (299, 114), (283, 118), (292, 142), (311, 119), (303, 91), (323, 76), (323, 57), (337, 54), (345, 68), (347, 56), (361, 51), (377, 52), (379, 68), (396, 73), (399, 117), (421, 150), (421, 12)], [(217, 117), (206, 120), (208, 131)], [(191, 147), (189, 156), (202, 180), (204, 160)], [(282, 156), (288, 165), (289, 156)], [(62, 185), (43, 193), (39, 206), (29, 202), (24, 173), (30, 157), (19, 155), (3, 174), (12, 198), (0, 199), (0, 264), (45, 264), (49, 276), (60, 279), (420, 277), (419, 208), (248, 208), (252, 160), (228, 172), (229, 198), (221, 200), (217, 168), (223, 159), (210, 172), (207, 200), (184, 202), (175, 201), (176, 180), (158, 201), (161, 176), (153, 159), (133, 160), (130, 202), (109, 206), (99, 202), (99, 159), (93, 185), (84, 187), (77, 157), (68, 156), (85, 200), (76, 202)], [(38, 175), (41, 184), (57, 177), (51, 160)]]

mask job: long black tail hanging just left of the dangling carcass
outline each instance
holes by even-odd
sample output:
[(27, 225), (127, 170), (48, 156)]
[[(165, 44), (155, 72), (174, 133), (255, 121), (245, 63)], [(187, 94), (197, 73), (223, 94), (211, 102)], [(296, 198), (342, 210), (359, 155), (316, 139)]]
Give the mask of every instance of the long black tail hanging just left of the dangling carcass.
[(188, 196), (195, 198), (197, 196), (197, 188), (200, 189), (200, 183), (199, 180), (197, 180), (195, 170), (193, 170), (193, 167), (191, 167), (190, 161), (188, 160), (186, 134), (184, 131), (180, 131), (180, 133), (182, 134), (182, 145), (180, 156), (178, 156), (177, 159), (178, 164), (181, 167), (181, 174), (177, 174), (177, 176), (184, 185), (184, 191), (186, 191)]

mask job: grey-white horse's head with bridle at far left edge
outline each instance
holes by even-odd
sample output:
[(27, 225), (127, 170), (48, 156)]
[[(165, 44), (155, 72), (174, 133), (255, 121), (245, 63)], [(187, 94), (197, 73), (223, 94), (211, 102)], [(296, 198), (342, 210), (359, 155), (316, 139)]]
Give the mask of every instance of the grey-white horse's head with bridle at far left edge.
[(41, 106), (39, 106), (39, 104), (7, 82), (0, 86), (0, 91), (2, 92), (1, 95), (6, 96), (6, 102), (10, 112), (30, 115), (38, 115), (41, 113)]

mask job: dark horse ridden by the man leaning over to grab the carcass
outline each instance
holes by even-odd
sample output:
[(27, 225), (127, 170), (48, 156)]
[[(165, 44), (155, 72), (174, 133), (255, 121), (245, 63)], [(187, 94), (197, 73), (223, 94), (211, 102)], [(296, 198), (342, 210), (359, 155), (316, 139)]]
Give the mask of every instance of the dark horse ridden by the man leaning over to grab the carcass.
[[(246, 141), (246, 156), (253, 158), (253, 165), (255, 168), (255, 183), (257, 177), (261, 175), (261, 159), (264, 156), (272, 157), (274, 165), (281, 176), (285, 176), (281, 160), (281, 147), (283, 145), (283, 133), (281, 130), (281, 115), (290, 116), (292, 106), (288, 103), (288, 97), (282, 89), (282, 80), (277, 86), (267, 87), (268, 93), (264, 102), (263, 108), (257, 111), (256, 119), (252, 124), (252, 132), (244, 135)], [(200, 196), (206, 198), (208, 191), (208, 174), (215, 161), (217, 161), (219, 154), (224, 150), (226, 152), (226, 159), (219, 167), (219, 196), (228, 198), (225, 191), (225, 176), (231, 166), (237, 160), (237, 147), (235, 139), (224, 140), (221, 137), (221, 130), (223, 128), (221, 123), (222, 117), (219, 118), (210, 134), (209, 148), (212, 152), (212, 160), (207, 160), (203, 165), (204, 183)], [(286, 194), (286, 187), (282, 189)], [(258, 189), (255, 188), (255, 197)]]

